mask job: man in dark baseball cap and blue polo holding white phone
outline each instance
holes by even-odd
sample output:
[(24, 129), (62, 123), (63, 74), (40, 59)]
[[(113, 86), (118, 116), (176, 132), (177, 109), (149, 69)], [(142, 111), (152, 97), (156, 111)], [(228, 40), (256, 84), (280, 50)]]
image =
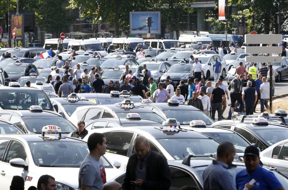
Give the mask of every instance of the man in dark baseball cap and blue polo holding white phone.
[[(259, 150), (256, 146), (250, 145), (246, 147), (244, 152), (244, 163), (246, 169), (241, 170), (236, 174), (236, 188), (238, 190), (284, 190), (284, 187), (276, 176), (259, 164)], [(252, 185), (250, 185), (252, 182), (249, 184), (251, 180), (254, 181)]]

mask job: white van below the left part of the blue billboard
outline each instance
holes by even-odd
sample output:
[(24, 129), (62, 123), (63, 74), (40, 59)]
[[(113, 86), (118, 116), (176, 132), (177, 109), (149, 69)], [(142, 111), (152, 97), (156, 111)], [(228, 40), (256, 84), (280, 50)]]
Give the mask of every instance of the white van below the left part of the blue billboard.
[(120, 38), (112, 38), (112, 43), (113, 45), (117, 48), (119, 48), (119, 45), (122, 45), (122, 48), (125, 50), (126, 49), (126, 45), (127, 43), (130, 44), (130, 47), (132, 49), (136, 49), (136, 46), (138, 43), (141, 43), (141, 47), (143, 49), (148, 49), (148, 47), (146, 46), (143, 38), (138, 38), (138, 37), (120, 37)]

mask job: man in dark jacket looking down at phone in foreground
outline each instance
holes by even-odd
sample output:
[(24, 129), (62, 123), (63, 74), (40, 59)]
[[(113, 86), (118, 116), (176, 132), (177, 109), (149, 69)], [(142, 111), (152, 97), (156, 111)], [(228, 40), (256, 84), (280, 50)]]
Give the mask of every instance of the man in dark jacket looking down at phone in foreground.
[(123, 190), (169, 189), (171, 172), (164, 156), (153, 152), (144, 136), (138, 136), (134, 146), (136, 154), (128, 160)]

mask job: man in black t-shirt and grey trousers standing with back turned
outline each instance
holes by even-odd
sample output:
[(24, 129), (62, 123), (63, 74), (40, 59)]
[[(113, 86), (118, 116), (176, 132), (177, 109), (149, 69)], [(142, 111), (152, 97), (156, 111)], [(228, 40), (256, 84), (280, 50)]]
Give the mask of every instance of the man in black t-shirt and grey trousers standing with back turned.
[(219, 88), (219, 83), (215, 83), (215, 88), (211, 93), (211, 118), (215, 120), (216, 110), (218, 112), (218, 121), (222, 119), (222, 102), (225, 99), (225, 92)]

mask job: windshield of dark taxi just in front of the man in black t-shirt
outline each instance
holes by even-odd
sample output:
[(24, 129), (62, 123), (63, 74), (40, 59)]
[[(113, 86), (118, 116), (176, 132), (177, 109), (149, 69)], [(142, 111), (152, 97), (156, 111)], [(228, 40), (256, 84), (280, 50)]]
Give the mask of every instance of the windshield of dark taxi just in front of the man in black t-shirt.
[(164, 110), (167, 118), (177, 118), (181, 125), (189, 125), (192, 120), (203, 120), (206, 125), (212, 125), (213, 120), (202, 111), (196, 110)]

